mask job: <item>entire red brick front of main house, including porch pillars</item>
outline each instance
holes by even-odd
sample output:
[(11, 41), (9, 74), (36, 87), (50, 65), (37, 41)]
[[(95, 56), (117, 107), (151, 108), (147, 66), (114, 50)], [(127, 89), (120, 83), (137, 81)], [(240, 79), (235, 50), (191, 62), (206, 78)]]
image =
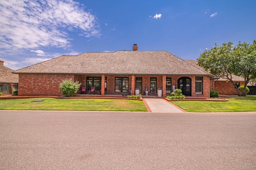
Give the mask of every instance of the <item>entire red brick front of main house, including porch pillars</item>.
[[(72, 79), (73, 81), (78, 81), (82, 83), (82, 86), (86, 86), (86, 77), (103, 77), (103, 75), (46, 75), (46, 74), (20, 74), (19, 75), (19, 86), (18, 90), (19, 96), (33, 96), (33, 95), (46, 95), (46, 96), (60, 96), (61, 91), (59, 85), (64, 79)], [(115, 77), (128, 77), (129, 78), (129, 92), (132, 88), (132, 94), (135, 94), (135, 80), (136, 77), (142, 77), (142, 95), (145, 95), (146, 87), (149, 90), (148, 95), (157, 96), (156, 93), (150, 93), (150, 77), (156, 77), (157, 79), (157, 89), (162, 89), (163, 96), (166, 96), (164, 81), (166, 77), (172, 78), (172, 85), (178, 87), (178, 79), (182, 76), (148, 76), (148, 75), (105, 75), (107, 77), (107, 91), (105, 94), (122, 94), (120, 92), (115, 92)], [(134, 77), (134, 82), (132, 82), (132, 77)], [(209, 97), (210, 96), (210, 78), (203, 77), (203, 94), (195, 94), (195, 76), (188, 76), (191, 78), (192, 85), (192, 97)], [(104, 83), (104, 82), (103, 82)], [(104, 93), (102, 94), (104, 95)]]

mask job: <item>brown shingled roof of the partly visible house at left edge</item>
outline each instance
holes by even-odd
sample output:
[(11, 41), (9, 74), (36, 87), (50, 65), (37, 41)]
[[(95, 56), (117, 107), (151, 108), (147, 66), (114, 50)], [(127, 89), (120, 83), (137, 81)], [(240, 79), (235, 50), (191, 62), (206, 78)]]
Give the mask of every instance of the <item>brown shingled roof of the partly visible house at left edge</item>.
[[(4, 63), (4, 61), (2, 61)], [(14, 70), (4, 67), (0, 64), (0, 83), (18, 83), (19, 76), (13, 74)]]

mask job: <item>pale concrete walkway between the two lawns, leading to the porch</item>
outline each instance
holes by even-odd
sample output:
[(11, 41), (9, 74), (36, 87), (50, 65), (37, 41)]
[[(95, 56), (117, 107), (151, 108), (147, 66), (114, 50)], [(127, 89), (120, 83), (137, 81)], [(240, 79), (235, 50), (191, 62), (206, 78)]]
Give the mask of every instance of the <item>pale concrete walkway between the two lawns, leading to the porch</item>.
[(184, 111), (164, 99), (144, 98), (144, 100), (154, 113), (184, 113)]

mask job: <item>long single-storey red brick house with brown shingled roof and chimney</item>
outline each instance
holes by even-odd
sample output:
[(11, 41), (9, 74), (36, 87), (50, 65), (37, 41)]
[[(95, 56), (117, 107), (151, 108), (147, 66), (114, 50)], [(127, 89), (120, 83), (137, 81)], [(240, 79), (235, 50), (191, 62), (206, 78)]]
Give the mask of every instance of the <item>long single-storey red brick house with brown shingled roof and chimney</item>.
[(170, 95), (174, 88), (191, 97), (210, 97), (210, 78), (196, 67), (167, 51), (87, 52), (63, 55), (14, 71), (19, 75), (19, 95), (60, 96), (59, 84), (65, 79), (79, 81), (89, 91), (96, 87), (101, 95)]

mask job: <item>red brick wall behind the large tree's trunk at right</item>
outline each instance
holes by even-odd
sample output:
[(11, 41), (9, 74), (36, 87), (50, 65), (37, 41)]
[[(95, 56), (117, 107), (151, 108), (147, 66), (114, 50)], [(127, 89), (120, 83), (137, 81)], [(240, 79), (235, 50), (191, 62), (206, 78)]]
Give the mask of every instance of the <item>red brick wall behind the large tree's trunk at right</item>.
[[(235, 83), (240, 83), (244, 85), (244, 81), (234, 81)], [(234, 85), (228, 81), (214, 81), (214, 90), (218, 91), (220, 95), (238, 95)]]

